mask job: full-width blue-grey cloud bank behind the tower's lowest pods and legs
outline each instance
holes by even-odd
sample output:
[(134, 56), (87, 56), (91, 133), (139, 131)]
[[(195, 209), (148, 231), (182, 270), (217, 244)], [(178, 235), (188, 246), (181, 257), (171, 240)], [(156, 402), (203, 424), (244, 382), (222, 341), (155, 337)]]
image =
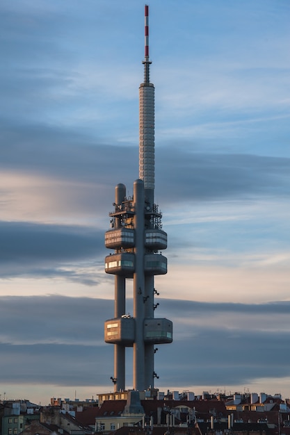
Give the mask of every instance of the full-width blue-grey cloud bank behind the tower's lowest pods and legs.
[[(166, 313), (174, 322), (174, 342), (158, 346), (159, 386), (171, 384), (172, 372), (179, 387), (229, 386), (289, 376), (290, 354), (285, 347), (289, 331), (283, 329), (289, 302), (160, 302), (159, 315)], [(103, 331), (104, 320), (112, 313), (113, 301), (106, 299), (1, 297), (1, 381), (108, 385), (113, 346), (104, 343)], [(281, 353), (283, 359), (277, 359)], [(130, 370), (128, 359), (128, 379)]]

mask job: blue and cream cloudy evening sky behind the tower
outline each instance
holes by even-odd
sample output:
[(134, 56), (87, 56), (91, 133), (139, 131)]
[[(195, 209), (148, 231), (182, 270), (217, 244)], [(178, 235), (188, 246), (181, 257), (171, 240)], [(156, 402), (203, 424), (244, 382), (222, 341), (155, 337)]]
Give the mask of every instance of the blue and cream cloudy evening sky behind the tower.
[[(113, 391), (104, 232), (138, 179), (144, 4), (0, 2), (0, 400)], [(289, 397), (289, 0), (148, 4), (174, 331), (155, 386)]]

